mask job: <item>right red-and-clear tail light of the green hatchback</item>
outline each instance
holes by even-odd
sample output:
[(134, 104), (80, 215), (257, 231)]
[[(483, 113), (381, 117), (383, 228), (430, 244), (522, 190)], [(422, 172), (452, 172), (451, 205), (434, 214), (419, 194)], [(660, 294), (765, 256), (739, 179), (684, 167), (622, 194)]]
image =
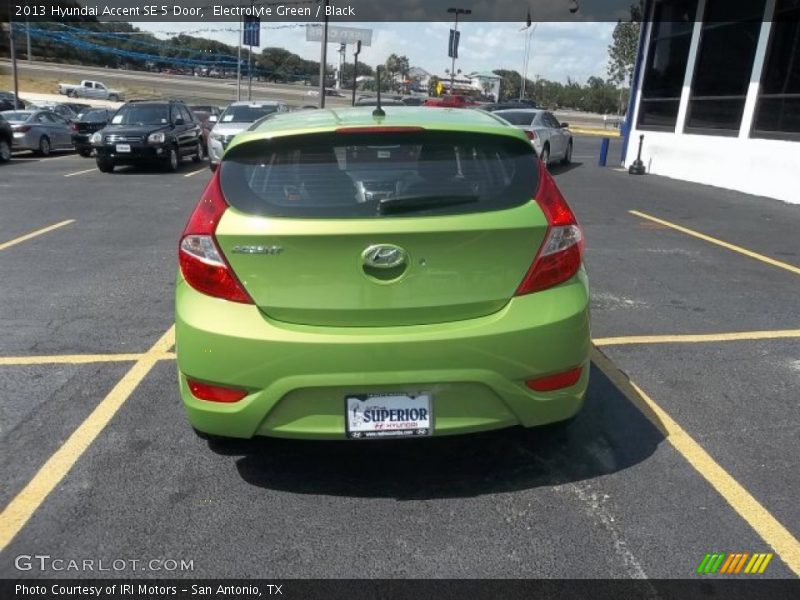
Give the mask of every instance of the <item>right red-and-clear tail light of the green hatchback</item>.
[(534, 198), (547, 217), (547, 234), (525, 279), (517, 288), (517, 296), (567, 281), (578, 272), (583, 260), (583, 232), (552, 175), (541, 162), (539, 189)]

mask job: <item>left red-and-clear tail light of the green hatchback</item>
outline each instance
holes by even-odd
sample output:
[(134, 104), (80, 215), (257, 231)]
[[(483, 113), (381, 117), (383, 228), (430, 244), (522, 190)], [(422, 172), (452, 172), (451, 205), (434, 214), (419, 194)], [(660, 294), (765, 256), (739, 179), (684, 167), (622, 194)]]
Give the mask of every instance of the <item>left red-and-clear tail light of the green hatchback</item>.
[(178, 261), (186, 282), (198, 292), (242, 304), (253, 299), (220, 252), (214, 236), (228, 208), (219, 183), (219, 169), (200, 196), (178, 247)]

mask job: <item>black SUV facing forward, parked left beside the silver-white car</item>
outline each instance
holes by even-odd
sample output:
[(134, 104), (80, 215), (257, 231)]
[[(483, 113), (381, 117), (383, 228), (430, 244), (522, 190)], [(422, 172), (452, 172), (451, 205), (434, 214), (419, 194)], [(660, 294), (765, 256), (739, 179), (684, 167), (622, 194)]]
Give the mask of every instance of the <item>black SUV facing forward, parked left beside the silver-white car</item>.
[(185, 157), (203, 160), (203, 138), (192, 111), (180, 100), (132, 100), (91, 137), (97, 168), (160, 163), (177, 171)]

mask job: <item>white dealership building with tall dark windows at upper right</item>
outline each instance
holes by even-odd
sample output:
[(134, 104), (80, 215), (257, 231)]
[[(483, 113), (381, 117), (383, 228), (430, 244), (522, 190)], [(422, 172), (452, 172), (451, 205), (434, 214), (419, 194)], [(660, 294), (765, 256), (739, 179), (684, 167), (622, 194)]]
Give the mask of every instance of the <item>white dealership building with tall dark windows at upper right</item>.
[(800, 203), (800, 0), (646, 0), (625, 166)]

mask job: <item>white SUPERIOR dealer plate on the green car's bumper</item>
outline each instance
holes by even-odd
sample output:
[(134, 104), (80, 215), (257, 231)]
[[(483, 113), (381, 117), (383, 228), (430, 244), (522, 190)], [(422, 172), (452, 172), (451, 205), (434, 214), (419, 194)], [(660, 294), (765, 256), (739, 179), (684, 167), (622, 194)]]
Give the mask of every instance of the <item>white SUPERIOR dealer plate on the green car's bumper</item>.
[(348, 439), (431, 435), (430, 394), (352, 394), (345, 398)]

